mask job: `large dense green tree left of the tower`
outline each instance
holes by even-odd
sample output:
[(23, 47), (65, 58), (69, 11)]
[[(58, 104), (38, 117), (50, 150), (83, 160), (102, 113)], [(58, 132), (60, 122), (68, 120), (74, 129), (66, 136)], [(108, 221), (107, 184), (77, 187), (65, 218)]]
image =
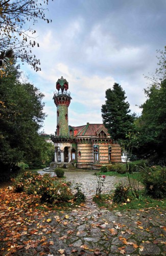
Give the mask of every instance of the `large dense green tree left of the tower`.
[(41, 159), (44, 95), (33, 84), (19, 81), (18, 67), (8, 65), (6, 71), (0, 86), (0, 162), (15, 165)]

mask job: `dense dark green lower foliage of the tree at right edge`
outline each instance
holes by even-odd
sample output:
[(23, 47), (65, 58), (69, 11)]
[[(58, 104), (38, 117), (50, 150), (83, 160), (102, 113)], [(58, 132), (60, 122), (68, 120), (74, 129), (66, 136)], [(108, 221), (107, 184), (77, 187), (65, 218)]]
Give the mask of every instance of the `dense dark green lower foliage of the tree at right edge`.
[[(141, 156), (163, 158), (166, 155), (166, 80), (145, 90), (148, 97), (137, 122)], [(164, 164), (164, 162), (163, 162)]]

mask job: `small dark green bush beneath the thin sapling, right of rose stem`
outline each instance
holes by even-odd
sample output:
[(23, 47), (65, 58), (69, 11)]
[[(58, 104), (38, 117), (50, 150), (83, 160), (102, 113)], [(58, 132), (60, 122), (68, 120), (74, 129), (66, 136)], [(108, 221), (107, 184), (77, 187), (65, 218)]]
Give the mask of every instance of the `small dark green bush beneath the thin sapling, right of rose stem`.
[(122, 183), (118, 183), (113, 193), (114, 203), (126, 203), (128, 199), (128, 194), (130, 191), (130, 186)]

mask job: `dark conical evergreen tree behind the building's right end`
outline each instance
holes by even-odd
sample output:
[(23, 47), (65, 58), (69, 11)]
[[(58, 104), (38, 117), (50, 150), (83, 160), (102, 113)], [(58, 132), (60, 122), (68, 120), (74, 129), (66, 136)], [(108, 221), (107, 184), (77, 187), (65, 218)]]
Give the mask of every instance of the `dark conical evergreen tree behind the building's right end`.
[(118, 83), (114, 83), (113, 89), (106, 90), (106, 102), (102, 105), (102, 118), (114, 140), (126, 138), (133, 129), (134, 117), (129, 114), (129, 103), (126, 100), (125, 91)]

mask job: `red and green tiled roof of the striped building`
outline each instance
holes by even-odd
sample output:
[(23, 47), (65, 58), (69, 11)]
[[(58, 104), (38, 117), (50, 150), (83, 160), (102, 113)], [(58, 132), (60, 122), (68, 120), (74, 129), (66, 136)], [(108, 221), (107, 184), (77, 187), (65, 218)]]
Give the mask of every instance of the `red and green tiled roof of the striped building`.
[(78, 130), (76, 136), (97, 136), (99, 131), (103, 131), (109, 136), (107, 129), (104, 124), (101, 123), (87, 123), (81, 126), (72, 126), (74, 131)]

